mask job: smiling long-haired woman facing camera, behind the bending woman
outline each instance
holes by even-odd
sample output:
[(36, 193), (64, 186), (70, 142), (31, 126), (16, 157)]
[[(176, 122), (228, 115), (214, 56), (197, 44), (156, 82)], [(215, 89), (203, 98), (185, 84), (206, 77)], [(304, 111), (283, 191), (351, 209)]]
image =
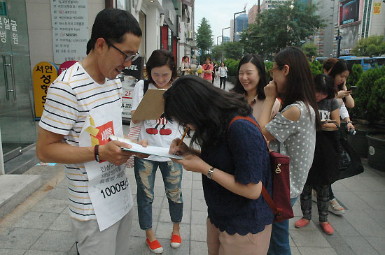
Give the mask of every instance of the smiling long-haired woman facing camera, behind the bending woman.
[[(267, 85), (266, 69), (262, 59), (257, 54), (246, 54), (238, 64), (238, 80), (232, 92), (245, 96), (248, 104), (253, 108), (253, 116), (258, 119), (262, 112), (263, 102), (266, 96), (263, 88)], [(272, 108), (271, 119), (279, 111), (278, 99)]]

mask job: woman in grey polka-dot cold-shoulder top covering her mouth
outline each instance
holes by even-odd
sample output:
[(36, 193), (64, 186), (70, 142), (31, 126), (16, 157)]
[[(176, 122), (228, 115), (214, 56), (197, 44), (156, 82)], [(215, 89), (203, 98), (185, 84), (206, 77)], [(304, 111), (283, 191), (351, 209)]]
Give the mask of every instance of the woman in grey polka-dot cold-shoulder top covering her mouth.
[[(299, 48), (290, 46), (274, 57), (273, 78), (265, 87), (265, 103), (258, 122), (270, 149), (290, 157), (290, 198), (294, 205), (302, 193), (313, 162), (316, 128), (321, 126), (309, 61)], [(282, 108), (271, 119), (276, 96)], [(274, 223), (268, 254), (291, 254), (288, 220)]]

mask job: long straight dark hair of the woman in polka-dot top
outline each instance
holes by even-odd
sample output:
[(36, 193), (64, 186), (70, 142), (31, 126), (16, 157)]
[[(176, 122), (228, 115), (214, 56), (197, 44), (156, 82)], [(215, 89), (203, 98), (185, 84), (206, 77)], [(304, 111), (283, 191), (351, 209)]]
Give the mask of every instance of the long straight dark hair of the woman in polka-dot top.
[(309, 105), (316, 112), (316, 128), (321, 127), (316, 101), (316, 86), (304, 52), (297, 47), (290, 46), (278, 52), (274, 57), (274, 62), (280, 70), (285, 65), (289, 66), (289, 73), (286, 76), (286, 92), (279, 95), (282, 99), (281, 109), (296, 101), (303, 101), (307, 105), (309, 113)]

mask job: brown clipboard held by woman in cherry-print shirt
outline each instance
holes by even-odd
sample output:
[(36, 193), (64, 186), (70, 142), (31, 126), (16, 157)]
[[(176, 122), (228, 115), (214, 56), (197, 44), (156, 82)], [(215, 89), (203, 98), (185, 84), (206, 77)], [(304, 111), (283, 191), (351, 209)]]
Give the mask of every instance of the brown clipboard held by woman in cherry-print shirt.
[(166, 89), (148, 89), (132, 115), (132, 120), (159, 119), (165, 112), (163, 93), (166, 91)]

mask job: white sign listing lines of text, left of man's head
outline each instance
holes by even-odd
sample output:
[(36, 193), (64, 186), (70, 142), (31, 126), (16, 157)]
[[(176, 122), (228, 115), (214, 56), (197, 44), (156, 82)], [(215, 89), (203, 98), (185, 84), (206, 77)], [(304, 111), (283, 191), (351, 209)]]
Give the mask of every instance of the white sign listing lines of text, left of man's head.
[(87, 0), (50, 0), (55, 63), (81, 61), (88, 41)]

